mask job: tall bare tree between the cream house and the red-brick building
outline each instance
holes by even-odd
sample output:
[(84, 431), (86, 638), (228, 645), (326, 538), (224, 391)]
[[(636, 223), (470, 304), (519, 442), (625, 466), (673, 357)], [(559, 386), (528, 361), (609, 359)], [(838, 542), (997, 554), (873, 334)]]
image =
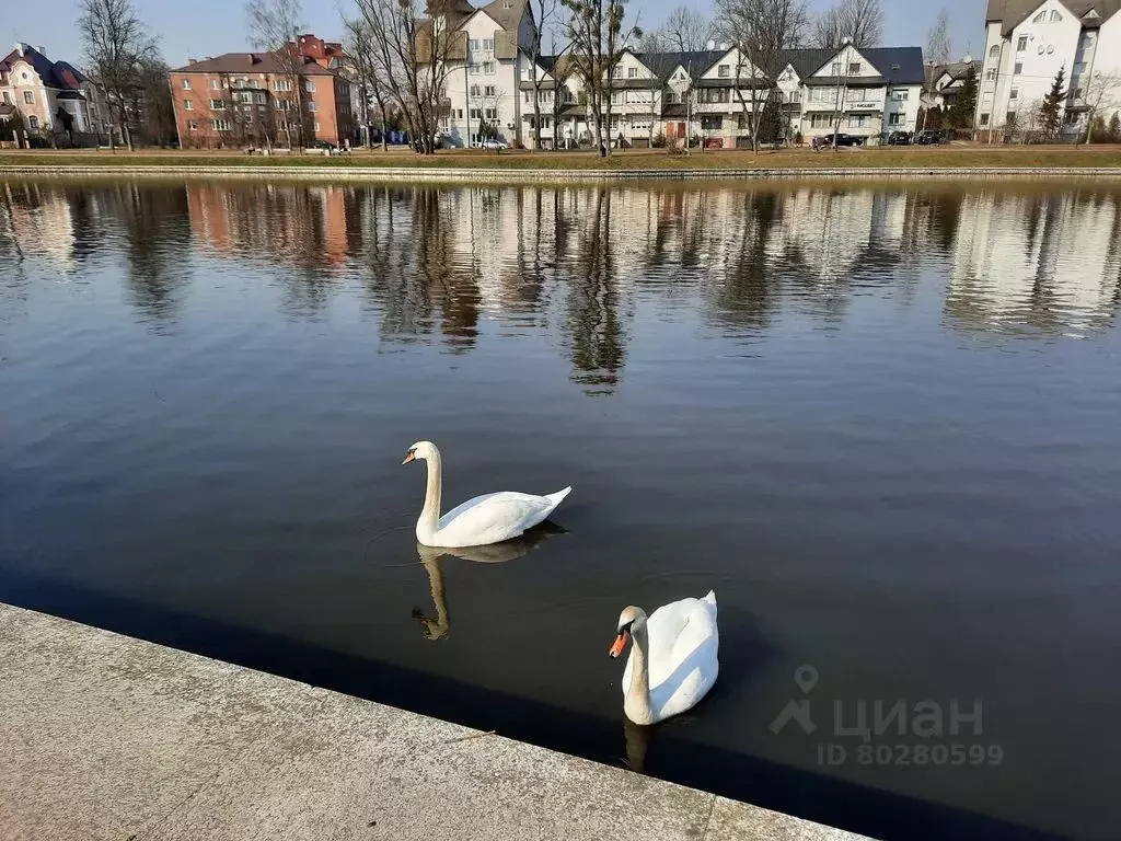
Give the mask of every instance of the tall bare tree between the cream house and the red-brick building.
[[(158, 61), (156, 40), (132, 8), (132, 0), (82, 0), (78, 28), (89, 75), (115, 109), (129, 151), (128, 104), (139, 89), (145, 64)], [(112, 145), (112, 128), (109, 142)]]

